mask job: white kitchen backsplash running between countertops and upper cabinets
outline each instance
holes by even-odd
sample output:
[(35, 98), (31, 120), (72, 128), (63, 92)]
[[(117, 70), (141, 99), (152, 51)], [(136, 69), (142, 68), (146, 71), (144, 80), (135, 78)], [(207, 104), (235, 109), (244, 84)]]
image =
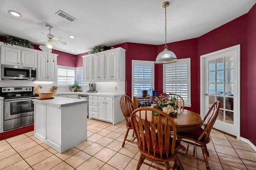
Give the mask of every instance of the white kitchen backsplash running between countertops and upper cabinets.
[[(42, 85), (41, 92), (47, 92), (49, 87), (56, 85), (56, 82), (27, 81), (27, 80), (2, 80), (0, 87), (24, 87)], [(57, 85), (58, 86), (58, 85)], [(82, 91), (88, 90), (88, 85), (81, 85)], [(115, 88), (116, 87), (116, 88)], [(123, 87), (123, 89), (122, 89)], [(125, 93), (125, 81), (96, 82), (96, 90), (100, 93)], [(69, 92), (68, 85), (58, 86), (58, 92)]]

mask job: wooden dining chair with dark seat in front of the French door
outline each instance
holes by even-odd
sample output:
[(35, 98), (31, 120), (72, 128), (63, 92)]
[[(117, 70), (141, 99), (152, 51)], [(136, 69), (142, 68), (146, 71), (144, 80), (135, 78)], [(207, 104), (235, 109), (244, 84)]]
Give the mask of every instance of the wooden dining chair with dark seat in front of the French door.
[[(193, 130), (193, 131), (188, 131), (188, 132), (178, 132), (177, 136), (178, 136), (178, 140), (181, 142), (186, 142), (188, 143), (187, 146), (187, 150), (186, 150), (186, 154), (183, 152), (178, 152), (179, 154), (182, 154), (184, 156), (188, 156), (189, 158), (193, 158), (196, 160), (200, 160), (200, 161), (204, 161), (206, 164), (206, 169), (210, 170), (210, 166), (208, 163), (208, 158), (207, 156), (209, 156), (209, 152), (207, 150), (207, 146), (206, 144), (208, 144), (210, 142), (210, 132), (212, 130), (212, 127), (218, 117), (218, 113), (220, 110), (220, 101), (216, 101), (212, 107), (209, 109), (208, 113), (206, 114), (206, 116), (204, 117), (204, 129), (203, 128), (198, 128), (197, 130)], [(188, 140), (192, 140), (194, 142), (196, 142), (196, 144), (194, 144), (193, 142), (190, 141), (184, 141), (182, 139), (188, 139)], [(188, 154), (188, 149), (189, 149), (189, 144), (194, 145), (194, 152), (193, 152), (193, 156)], [(203, 157), (204, 159), (198, 158), (195, 156), (195, 150), (196, 150), (196, 146), (199, 146), (202, 148), (202, 153), (203, 153)]]

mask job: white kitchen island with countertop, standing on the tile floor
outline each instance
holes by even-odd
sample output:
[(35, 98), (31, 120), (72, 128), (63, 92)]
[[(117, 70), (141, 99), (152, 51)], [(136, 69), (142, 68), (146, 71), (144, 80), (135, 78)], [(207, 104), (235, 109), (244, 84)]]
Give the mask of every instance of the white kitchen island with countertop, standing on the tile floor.
[(34, 101), (34, 136), (63, 153), (87, 140), (88, 100), (55, 97)]

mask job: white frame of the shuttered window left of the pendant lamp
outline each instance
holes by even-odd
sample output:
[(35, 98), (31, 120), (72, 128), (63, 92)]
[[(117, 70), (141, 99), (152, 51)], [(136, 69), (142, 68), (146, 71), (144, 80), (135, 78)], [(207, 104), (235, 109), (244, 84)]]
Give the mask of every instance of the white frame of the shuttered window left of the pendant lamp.
[(152, 89), (155, 88), (155, 64), (154, 61), (144, 61), (144, 60), (132, 60), (132, 100), (134, 97), (134, 63), (136, 64), (147, 64), (152, 65)]

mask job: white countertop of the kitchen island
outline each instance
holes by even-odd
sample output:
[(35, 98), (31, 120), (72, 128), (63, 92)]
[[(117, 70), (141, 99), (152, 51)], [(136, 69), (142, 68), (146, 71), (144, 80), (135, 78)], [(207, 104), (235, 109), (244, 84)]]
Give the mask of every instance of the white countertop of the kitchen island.
[(32, 101), (34, 101), (34, 103), (40, 103), (40, 104), (56, 106), (56, 107), (76, 105), (76, 104), (88, 102), (88, 100), (73, 99), (73, 98), (68, 98), (68, 97), (55, 97), (54, 99), (48, 99), (48, 100), (33, 99)]

